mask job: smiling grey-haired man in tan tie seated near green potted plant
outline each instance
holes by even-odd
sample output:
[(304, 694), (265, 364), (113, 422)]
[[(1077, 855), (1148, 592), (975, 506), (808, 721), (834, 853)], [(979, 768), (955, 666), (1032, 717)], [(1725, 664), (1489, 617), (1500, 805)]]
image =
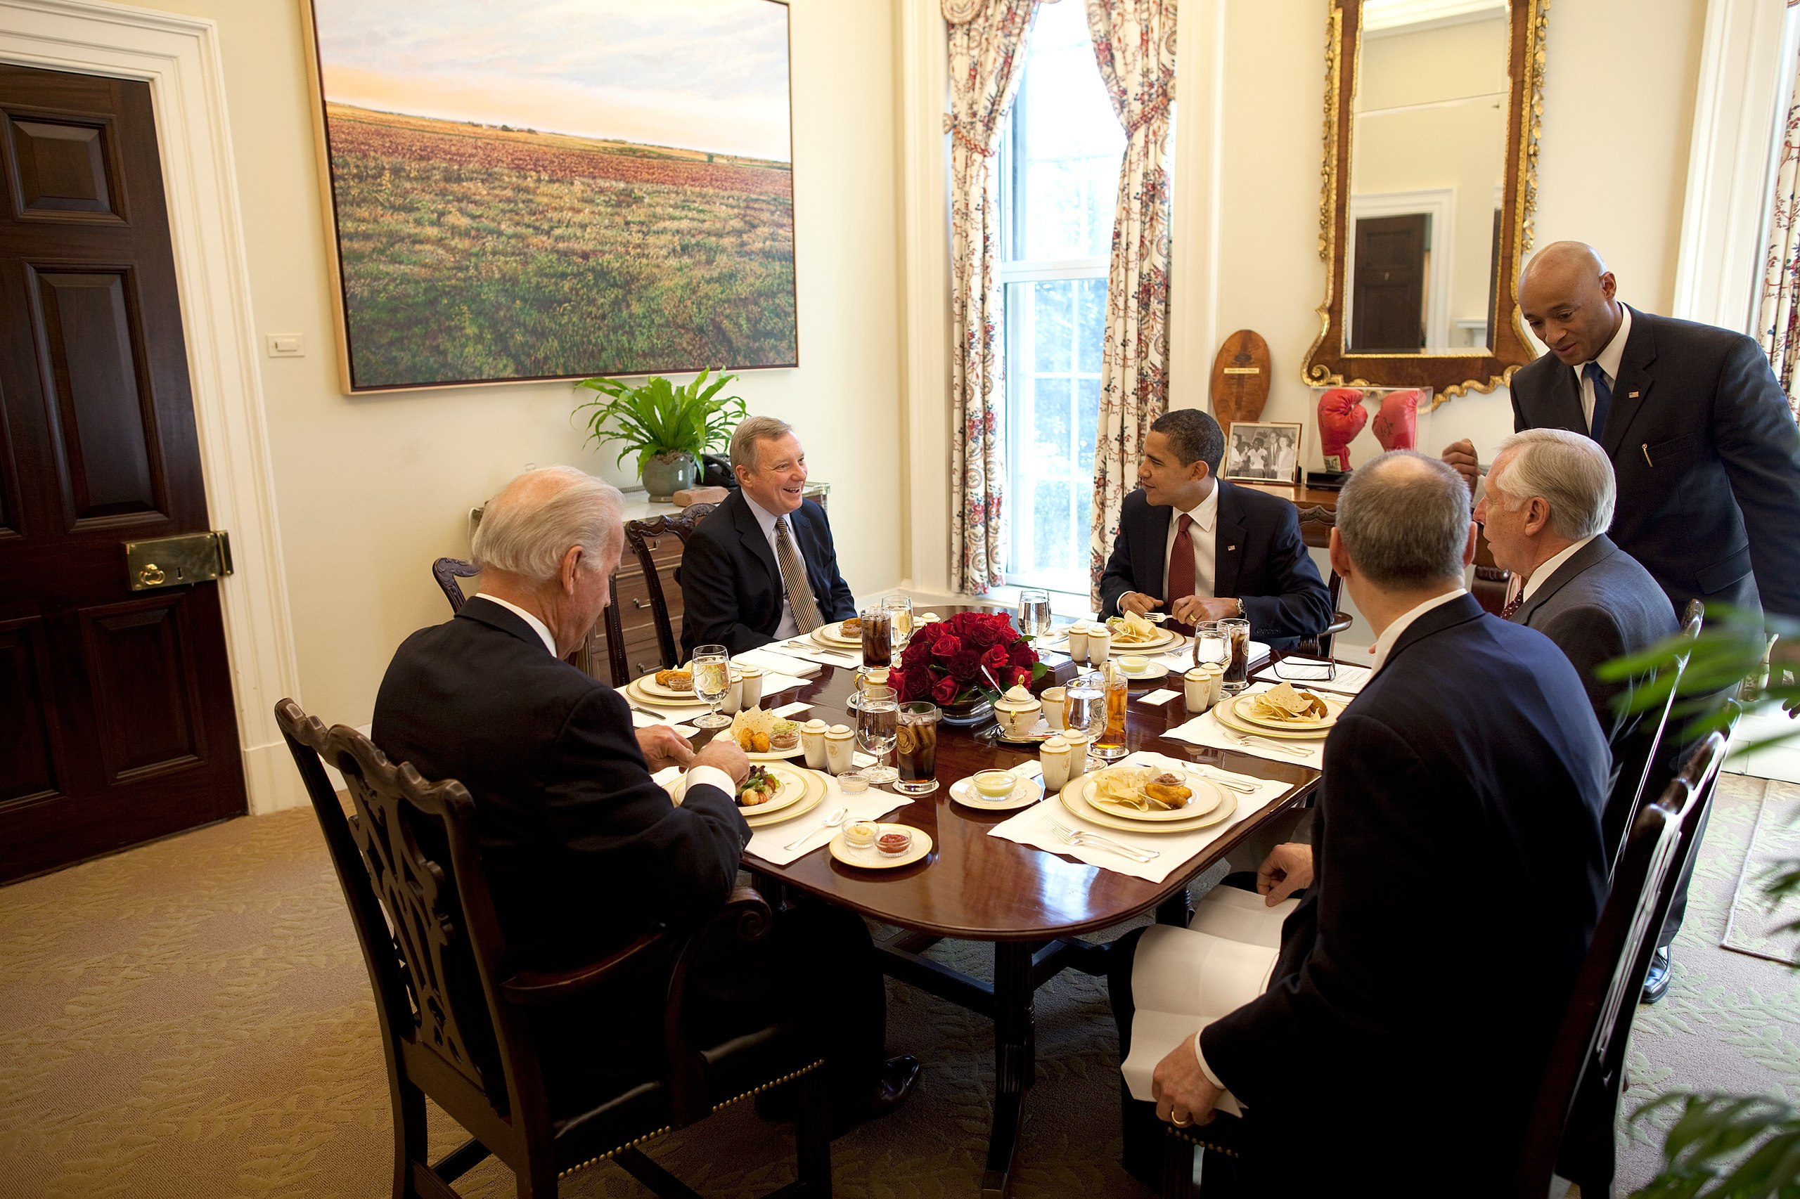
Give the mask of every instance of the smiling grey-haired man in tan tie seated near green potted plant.
[(824, 509), (801, 497), (806, 452), (787, 421), (752, 416), (731, 436), (738, 488), (688, 536), (680, 648), (733, 654), (857, 614)]

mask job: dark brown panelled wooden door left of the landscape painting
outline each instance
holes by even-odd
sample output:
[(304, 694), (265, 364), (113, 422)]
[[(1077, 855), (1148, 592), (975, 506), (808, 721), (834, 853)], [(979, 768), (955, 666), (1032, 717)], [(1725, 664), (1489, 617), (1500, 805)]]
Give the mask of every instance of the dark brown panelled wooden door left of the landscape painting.
[(0, 880), (245, 810), (149, 85), (0, 67)]

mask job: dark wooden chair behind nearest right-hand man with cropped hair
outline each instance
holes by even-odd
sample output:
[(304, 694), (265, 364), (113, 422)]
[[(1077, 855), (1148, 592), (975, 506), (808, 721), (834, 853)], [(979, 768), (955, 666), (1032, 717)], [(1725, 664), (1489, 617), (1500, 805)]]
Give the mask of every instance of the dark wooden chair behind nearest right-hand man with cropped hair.
[(1532, 1105), (1517, 1172), (1521, 1199), (1544, 1199), (1553, 1174), (1577, 1183), (1582, 1195), (1613, 1194), (1625, 1041), (1676, 880), (1699, 850), (1730, 740), (1730, 729), (1708, 735), (1633, 821)]

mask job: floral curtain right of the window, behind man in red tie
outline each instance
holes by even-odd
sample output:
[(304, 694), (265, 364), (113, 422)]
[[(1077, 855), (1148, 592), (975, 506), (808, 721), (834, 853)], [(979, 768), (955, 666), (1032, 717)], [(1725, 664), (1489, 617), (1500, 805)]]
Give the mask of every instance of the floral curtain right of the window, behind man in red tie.
[(1136, 486), (1150, 421), (1168, 407), (1168, 126), (1175, 99), (1175, 0), (1087, 0), (1100, 77), (1125, 126), (1125, 164), (1112, 216), (1107, 331), (1100, 356), (1094, 443), (1094, 520), (1089, 585), (1118, 535), (1120, 506)]

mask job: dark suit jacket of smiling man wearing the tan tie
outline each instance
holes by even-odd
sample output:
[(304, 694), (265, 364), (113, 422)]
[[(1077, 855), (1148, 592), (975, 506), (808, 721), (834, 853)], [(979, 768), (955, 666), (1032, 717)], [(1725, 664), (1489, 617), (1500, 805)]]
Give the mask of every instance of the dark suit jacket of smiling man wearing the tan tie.
[[(857, 614), (850, 583), (837, 572), (837, 545), (824, 509), (803, 500), (788, 515), (819, 616), (841, 621)], [(680, 560), (682, 655), (697, 645), (722, 645), (733, 654), (769, 645), (781, 625), (781, 567), (756, 513), (742, 491), (720, 506), (688, 536)]]

